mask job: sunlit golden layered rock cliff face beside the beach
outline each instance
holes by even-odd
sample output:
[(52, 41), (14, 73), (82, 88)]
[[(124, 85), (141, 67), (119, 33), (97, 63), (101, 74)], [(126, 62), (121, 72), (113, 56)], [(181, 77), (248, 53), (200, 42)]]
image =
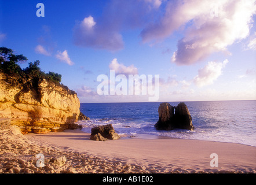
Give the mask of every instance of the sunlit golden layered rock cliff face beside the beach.
[[(21, 131), (43, 133), (76, 128), (80, 113), (77, 95), (45, 79), (35, 89), (6, 82), (0, 73), (0, 117), (11, 118)], [(26, 82), (33, 83), (33, 82)], [(24, 83), (23, 83), (24, 84)]]

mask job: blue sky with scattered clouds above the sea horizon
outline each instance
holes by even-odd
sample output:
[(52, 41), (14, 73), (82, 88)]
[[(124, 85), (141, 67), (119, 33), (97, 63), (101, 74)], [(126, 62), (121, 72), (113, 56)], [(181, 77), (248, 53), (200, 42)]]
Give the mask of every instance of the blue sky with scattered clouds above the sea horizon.
[[(21, 68), (39, 60), (42, 71), (61, 74), (82, 103), (148, 102), (144, 86), (159, 102), (249, 100), (255, 14), (254, 0), (0, 0), (0, 46), (28, 58)], [(129, 94), (129, 75), (147, 77), (140, 94)], [(113, 84), (123, 93), (111, 94)]]

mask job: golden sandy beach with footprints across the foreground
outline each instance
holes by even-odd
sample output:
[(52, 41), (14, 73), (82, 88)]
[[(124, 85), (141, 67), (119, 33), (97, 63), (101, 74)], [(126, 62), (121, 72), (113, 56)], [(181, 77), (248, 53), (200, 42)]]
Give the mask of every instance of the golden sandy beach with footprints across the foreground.
[[(256, 147), (155, 136), (99, 142), (76, 130), (20, 134), (0, 132), (0, 173), (256, 173)], [(218, 167), (210, 155), (218, 155)], [(43, 154), (43, 167), (36, 166)], [(52, 162), (64, 156), (63, 165)], [(216, 165), (215, 161), (215, 165)]]

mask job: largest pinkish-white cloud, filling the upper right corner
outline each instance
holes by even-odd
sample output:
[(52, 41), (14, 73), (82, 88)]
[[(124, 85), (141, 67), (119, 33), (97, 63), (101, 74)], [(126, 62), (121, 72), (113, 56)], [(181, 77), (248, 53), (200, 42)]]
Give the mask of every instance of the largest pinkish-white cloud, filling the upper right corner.
[(256, 12), (255, 1), (169, 1), (166, 12), (142, 32), (144, 42), (159, 42), (174, 31), (184, 29), (171, 60), (177, 65), (191, 65), (210, 54), (246, 38)]

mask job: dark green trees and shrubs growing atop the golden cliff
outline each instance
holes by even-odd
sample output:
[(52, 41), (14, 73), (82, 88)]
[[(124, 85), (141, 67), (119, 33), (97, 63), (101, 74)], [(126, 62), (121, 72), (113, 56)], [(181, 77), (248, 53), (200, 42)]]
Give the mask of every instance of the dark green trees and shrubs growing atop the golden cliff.
[(0, 47), (0, 72), (4, 74), (5, 82), (10, 84), (10, 87), (19, 86), (24, 92), (32, 90), (35, 92), (38, 101), (41, 99), (39, 84), (43, 80), (60, 85), (71, 94), (76, 94), (75, 91), (69, 90), (67, 86), (60, 84), (60, 74), (41, 71), (39, 68), (40, 61), (38, 60), (29, 62), (27, 68), (21, 69), (19, 63), (27, 60), (27, 57), (23, 56), (23, 54), (16, 55), (12, 49)]

